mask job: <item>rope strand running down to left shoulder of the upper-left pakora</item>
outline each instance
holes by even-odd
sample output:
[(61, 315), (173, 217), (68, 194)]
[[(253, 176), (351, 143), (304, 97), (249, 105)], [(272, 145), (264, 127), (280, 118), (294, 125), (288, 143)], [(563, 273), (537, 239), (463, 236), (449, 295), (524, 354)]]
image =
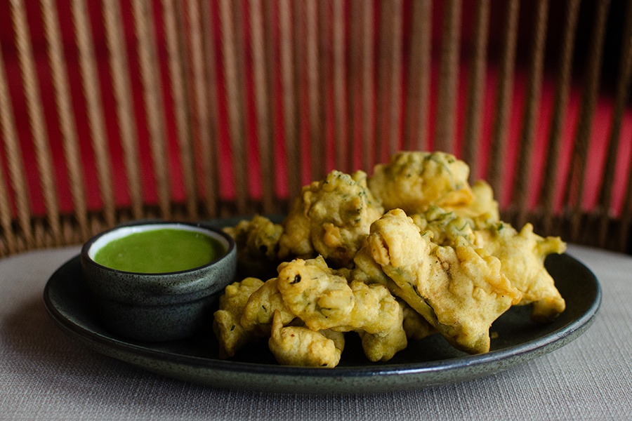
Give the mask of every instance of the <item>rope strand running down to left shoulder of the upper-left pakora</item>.
[(289, 0), (279, 0), (279, 42), (281, 44), (281, 78), (288, 189), (289, 196), (296, 197), (301, 190), (301, 157), (298, 153), (298, 119), (296, 116), (290, 5), (291, 2)]

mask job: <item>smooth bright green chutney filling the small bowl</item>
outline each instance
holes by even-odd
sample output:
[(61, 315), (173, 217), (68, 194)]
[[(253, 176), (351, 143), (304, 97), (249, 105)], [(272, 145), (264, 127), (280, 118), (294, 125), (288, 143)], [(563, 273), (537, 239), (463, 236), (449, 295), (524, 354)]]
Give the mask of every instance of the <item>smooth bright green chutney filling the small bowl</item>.
[(125, 272), (179, 272), (206, 265), (225, 248), (202, 232), (153, 229), (110, 241), (97, 250), (94, 261)]

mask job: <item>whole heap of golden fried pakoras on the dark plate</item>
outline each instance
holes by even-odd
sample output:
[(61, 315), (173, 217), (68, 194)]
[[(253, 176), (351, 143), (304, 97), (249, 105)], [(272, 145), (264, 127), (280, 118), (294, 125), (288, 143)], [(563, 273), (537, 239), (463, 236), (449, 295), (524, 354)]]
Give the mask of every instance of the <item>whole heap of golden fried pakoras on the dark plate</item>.
[(303, 187), (281, 224), (225, 229), (244, 276), (214, 314), (220, 357), (268, 340), (280, 364), (335, 367), (349, 332), (369, 361), (435, 334), (480, 354), (511, 306), (555, 319), (565, 300), (544, 259), (565, 243), (501, 221), (492, 188), (468, 177), (452, 154), (400, 152), (370, 178), (331, 171)]

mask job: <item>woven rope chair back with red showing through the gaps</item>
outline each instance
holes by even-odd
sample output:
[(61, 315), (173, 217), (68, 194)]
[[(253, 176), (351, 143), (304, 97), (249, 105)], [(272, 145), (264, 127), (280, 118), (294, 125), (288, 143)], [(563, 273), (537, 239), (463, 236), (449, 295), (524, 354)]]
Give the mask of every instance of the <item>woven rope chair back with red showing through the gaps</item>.
[(0, 43), (0, 256), (282, 213), (402, 149), (631, 251), (632, 1), (5, 0)]

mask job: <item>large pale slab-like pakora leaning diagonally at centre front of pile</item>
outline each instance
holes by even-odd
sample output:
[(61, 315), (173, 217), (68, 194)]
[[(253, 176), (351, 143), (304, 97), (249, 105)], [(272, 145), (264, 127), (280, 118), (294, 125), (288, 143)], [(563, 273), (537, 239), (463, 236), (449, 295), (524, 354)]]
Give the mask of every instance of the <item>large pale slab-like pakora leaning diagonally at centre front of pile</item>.
[(501, 274), (497, 258), (466, 239), (453, 248), (430, 237), (397, 209), (371, 225), (365, 247), (392, 280), (391, 292), (449, 342), (470, 353), (489, 351), (489, 326), (520, 301), (520, 292)]

